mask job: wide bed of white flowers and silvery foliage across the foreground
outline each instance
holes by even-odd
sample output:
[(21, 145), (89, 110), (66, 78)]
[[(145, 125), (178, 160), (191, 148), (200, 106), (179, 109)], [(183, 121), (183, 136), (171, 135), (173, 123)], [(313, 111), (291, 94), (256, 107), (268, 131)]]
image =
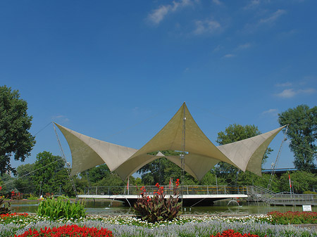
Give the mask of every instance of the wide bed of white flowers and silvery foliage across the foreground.
[[(9, 219), (12, 222), (9, 222)], [(20, 222), (23, 219), (23, 222)], [(26, 231), (54, 229), (60, 226), (77, 225), (85, 228), (108, 229), (113, 236), (217, 236), (232, 230), (235, 236), (250, 234), (254, 236), (317, 236), (316, 230), (269, 224), (271, 216), (257, 215), (247, 217), (179, 217), (173, 221), (150, 223), (136, 217), (100, 217), (90, 216), (80, 219), (50, 220), (37, 215), (11, 215), (5, 224), (0, 224), (0, 236), (17, 236)], [(2, 223), (2, 222), (0, 222)], [(226, 233), (226, 232), (225, 232)]]

